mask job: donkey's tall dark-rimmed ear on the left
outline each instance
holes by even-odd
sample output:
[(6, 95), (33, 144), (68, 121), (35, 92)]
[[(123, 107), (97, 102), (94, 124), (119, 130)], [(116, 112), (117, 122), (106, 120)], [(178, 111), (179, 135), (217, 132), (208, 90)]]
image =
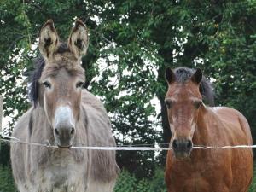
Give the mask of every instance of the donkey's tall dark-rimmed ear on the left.
[(50, 55), (55, 53), (58, 43), (59, 36), (55, 29), (53, 20), (47, 20), (40, 32), (38, 45), (40, 53), (44, 57), (49, 58)]

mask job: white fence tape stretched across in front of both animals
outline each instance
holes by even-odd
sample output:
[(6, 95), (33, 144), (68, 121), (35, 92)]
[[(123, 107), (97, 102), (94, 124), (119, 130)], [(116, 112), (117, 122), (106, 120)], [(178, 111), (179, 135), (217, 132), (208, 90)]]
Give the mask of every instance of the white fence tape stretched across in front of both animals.
[[(16, 143), (16, 144), (26, 144), (32, 146), (41, 146), (46, 148), (58, 148), (55, 145), (51, 145), (49, 143), (26, 143), (20, 141), (20, 139), (15, 137), (9, 137), (3, 135), (0, 132), (0, 136), (4, 138), (0, 138), (1, 141), (6, 143)], [(166, 143), (165, 143), (166, 144)], [(235, 146), (193, 146), (193, 149), (210, 149), (210, 148), (220, 148), (220, 149), (228, 149), (228, 148), (256, 148), (256, 145), (235, 145)], [(161, 151), (161, 150), (172, 150), (171, 147), (163, 148), (163, 147), (133, 147), (132, 145), (129, 147), (94, 147), (94, 146), (73, 146), (69, 149), (89, 149), (89, 150), (112, 150), (112, 151)]]

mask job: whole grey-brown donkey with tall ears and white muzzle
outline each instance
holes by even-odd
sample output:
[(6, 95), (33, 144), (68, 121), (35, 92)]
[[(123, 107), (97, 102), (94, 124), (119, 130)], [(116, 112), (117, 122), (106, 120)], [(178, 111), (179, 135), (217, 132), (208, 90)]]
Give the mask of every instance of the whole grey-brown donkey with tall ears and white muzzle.
[(44, 58), (32, 75), (33, 107), (18, 121), (13, 137), (59, 148), (11, 145), (11, 163), (20, 192), (111, 192), (119, 167), (115, 152), (70, 149), (73, 144), (115, 146), (108, 113), (96, 96), (82, 89), (81, 56), (87, 30), (76, 20), (67, 44), (52, 20), (40, 32)]

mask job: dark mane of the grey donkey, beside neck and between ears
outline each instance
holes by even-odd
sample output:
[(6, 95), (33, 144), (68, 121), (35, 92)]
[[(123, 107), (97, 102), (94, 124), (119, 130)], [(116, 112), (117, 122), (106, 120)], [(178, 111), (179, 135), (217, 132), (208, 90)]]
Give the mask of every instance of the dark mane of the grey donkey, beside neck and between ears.
[[(56, 50), (56, 53), (62, 54), (65, 52), (69, 52), (68, 46), (66, 43), (61, 43)], [(45, 61), (43, 56), (38, 56), (34, 61), (34, 70), (28, 74), (29, 86), (28, 86), (28, 97), (30, 101), (33, 102), (34, 106), (38, 103), (38, 79), (41, 78), (41, 74), (44, 70)]]

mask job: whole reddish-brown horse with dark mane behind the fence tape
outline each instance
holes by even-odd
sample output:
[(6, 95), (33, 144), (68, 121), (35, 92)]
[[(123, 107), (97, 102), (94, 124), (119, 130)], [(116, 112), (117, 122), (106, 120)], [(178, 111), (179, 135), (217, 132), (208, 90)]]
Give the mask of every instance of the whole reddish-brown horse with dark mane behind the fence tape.
[(247, 192), (253, 177), (252, 149), (194, 149), (193, 145), (251, 145), (247, 119), (233, 108), (209, 108), (211, 84), (201, 70), (166, 69), (166, 107), (172, 150), (166, 159), (168, 192)]

